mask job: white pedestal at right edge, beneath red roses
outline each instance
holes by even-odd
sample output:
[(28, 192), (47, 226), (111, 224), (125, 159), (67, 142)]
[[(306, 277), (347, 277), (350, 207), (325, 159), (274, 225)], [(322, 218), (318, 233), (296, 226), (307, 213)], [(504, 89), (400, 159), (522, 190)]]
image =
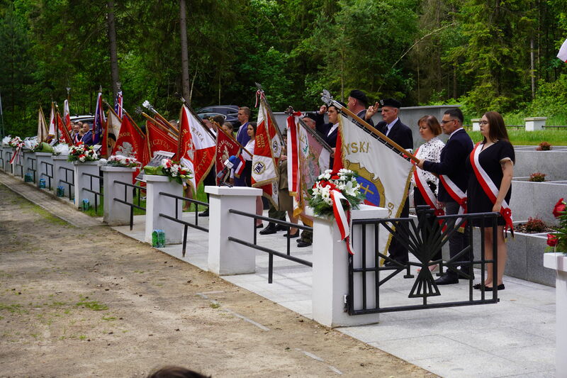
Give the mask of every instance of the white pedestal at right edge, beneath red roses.
[(544, 267), (557, 271), (555, 279), (556, 350), (555, 371), (557, 377), (567, 374), (567, 256), (563, 253), (544, 254)]

